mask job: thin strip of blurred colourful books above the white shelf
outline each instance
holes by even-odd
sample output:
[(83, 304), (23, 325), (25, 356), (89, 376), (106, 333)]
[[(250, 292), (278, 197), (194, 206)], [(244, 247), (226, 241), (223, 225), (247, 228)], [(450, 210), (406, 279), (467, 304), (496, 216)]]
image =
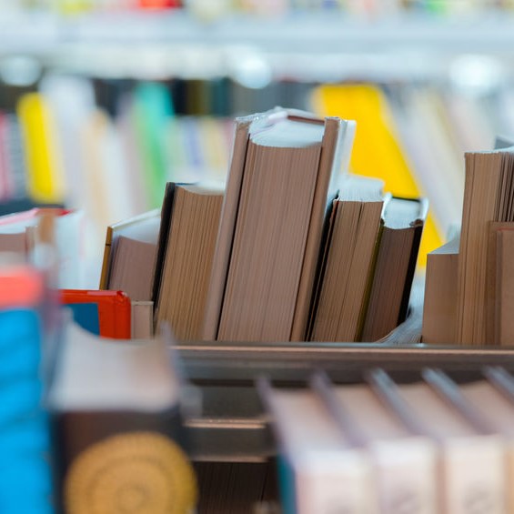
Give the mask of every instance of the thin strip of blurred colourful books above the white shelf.
[[(0, 4), (0, 8), (6, 9), (48, 9), (57, 10), (64, 14), (76, 14), (97, 11), (120, 11), (136, 9), (175, 9), (183, 7), (197, 14), (201, 2), (183, 2), (181, 0), (17, 0)], [(212, 8), (212, 7), (211, 7)], [(490, 9), (509, 10), (512, 3), (509, 0), (498, 2), (485, 2), (483, 0), (280, 0), (279, 2), (255, 2), (253, 0), (234, 0), (231, 2), (217, 2), (218, 15), (229, 15), (233, 12), (245, 12), (252, 14), (284, 15), (291, 11), (340, 10), (353, 15), (394, 15), (401, 12), (416, 11), (437, 15), (456, 15), (473, 13)]]

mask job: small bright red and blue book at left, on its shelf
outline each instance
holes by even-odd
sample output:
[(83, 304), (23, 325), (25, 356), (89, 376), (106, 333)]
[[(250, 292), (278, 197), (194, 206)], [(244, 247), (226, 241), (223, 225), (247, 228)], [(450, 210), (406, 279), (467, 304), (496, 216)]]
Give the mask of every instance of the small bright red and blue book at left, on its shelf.
[(59, 296), (80, 327), (104, 338), (131, 337), (132, 305), (123, 291), (61, 289)]

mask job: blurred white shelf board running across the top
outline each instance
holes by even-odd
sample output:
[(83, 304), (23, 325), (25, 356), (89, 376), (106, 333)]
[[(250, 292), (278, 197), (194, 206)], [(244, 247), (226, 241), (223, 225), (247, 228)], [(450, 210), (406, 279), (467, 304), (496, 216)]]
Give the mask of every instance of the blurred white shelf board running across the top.
[[(495, 55), (508, 64), (512, 21), (510, 13), (378, 20), (330, 12), (232, 14), (210, 23), (181, 11), (29, 13), (0, 18), (0, 55), (33, 55), (65, 70), (139, 78), (155, 77), (156, 68), (161, 76), (225, 76), (246, 56), (261, 59), (274, 78), (433, 80), (462, 54)], [(101, 68), (98, 60), (108, 63)]]

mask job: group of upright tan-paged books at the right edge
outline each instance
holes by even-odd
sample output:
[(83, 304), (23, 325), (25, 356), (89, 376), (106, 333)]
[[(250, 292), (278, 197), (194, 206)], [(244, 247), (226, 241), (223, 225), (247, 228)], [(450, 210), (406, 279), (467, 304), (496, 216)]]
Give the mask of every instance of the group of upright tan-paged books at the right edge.
[(428, 255), (424, 341), (514, 343), (509, 272), (513, 170), (510, 147), (466, 154), (460, 237)]

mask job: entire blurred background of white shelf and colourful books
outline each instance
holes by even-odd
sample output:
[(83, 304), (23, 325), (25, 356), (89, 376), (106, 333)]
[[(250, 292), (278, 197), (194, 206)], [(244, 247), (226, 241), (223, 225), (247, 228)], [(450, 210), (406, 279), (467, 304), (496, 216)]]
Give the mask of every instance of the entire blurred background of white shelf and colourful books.
[(356, 119), (351, 171), (429, 198), (423, 256), (464, 152), (514, 138), (513, 58), (511, 0), (0, 0), (0, 213), (84, 209), (100, 256), (166, 181), (225, 177), (234, 116), (297, 107)]

